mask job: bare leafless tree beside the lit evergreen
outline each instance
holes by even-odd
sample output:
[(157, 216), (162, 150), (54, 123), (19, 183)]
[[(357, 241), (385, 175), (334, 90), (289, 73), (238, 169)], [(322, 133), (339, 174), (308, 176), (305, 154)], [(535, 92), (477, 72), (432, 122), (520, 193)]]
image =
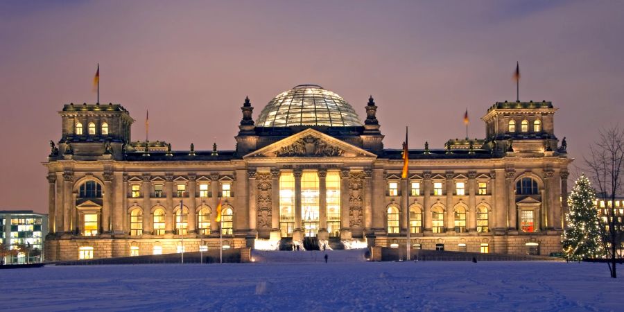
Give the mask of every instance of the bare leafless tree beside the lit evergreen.
[(589, 167), (589, 175), (595, 187), (596, 196), (603, 200), (606, 220), (601, 218), (603, 225), (603, 243), (607, 250), (607, 259), (611, 277), (618, 277), (616, 272), (617, 251), (621, 248), (622, 223), (616, 217), (615, 200), (622, 192), (622, 173), (624, 170), (624, 129), (616, 125), (600, 130), (598, 141), (589, 148), (589, 156), (585, 157)]

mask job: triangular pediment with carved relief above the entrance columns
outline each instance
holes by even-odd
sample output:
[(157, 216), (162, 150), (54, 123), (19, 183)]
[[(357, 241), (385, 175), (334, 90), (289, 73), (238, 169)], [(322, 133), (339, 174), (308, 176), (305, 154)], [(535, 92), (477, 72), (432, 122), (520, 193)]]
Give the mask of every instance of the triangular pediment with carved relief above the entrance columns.
[(243, 158), (252, 157), (377, 157), (377, 155), (309, 128), (243, 156)]

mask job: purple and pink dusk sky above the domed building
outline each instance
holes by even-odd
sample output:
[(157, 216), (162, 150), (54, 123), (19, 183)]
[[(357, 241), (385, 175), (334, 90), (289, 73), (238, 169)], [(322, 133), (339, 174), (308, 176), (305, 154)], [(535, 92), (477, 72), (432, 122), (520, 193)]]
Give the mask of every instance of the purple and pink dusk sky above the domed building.
[[(374, 96), (386, 148), (483, 138), (480, 117), (553, 101), (555, 135), (582, 166), (600, 126), (624, 116), (623, 1), (3, 1), (0, 209), (47, 211), (48, 141), (64, 103), (121, 103), (133, 140), (174, 150), (234, 148), (241, 104), (254, 119), (295, 85), (322, 85), (361, 119)], [(574, 169), (573, 169), (574, 171)], [(575, 177), (573, 175), (572, 177)]]

